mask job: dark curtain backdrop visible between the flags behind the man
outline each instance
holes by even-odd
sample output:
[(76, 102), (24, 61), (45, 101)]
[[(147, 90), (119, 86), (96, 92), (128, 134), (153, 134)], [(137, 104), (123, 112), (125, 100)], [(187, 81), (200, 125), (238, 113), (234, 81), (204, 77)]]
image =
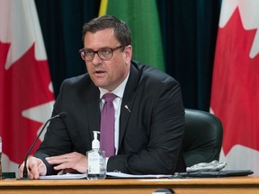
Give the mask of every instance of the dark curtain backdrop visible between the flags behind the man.
[[(78, 50), (82, 26), (98, 16), (100, 0), (35, 0), (55, 95), (62, 81), (85, 73)], [(165, 72), (182, 86), (185, 108), (210, 109), (221, 0), (156, 0)]]

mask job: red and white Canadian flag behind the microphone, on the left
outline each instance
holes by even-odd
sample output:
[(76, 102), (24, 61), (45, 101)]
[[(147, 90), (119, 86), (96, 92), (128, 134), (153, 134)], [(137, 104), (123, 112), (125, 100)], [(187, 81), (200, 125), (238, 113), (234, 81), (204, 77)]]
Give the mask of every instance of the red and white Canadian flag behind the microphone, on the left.
[(0, 0), (3, 172), (17, 172), (18, 164), (49, 119), (53, 103), (49, 65), (34, 1)]

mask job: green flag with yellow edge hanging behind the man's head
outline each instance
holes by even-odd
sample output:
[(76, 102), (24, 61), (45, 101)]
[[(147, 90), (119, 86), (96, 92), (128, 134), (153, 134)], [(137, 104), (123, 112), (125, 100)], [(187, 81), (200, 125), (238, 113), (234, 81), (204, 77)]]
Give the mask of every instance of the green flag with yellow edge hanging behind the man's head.
[(102, 0), (99, 16), (105, 14), (129, 25), (135, 60), (165, 71), (156, 0)]

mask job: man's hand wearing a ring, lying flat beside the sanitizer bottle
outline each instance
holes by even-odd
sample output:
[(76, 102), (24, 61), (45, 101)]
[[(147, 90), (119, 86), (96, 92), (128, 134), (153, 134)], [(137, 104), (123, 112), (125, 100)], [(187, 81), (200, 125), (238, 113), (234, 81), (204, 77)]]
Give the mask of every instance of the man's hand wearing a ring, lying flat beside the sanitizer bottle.
[(86, 172), (87, 158), (84, 154), (76, 152), (62, 154), (58, 156), (47, 157), (46, 161), (49, 164), (55, 165), (56, 171), (64, 170), (66, 172)]

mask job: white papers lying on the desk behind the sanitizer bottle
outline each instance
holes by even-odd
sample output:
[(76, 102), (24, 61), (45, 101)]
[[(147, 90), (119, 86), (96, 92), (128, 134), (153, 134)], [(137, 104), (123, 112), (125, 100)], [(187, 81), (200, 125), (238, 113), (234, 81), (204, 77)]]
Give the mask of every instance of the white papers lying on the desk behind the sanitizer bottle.
[[(160, 179), (160, 178), (173, 178), (170, 174), (143, 174), (134, 175), (123, 172), (107, 172), (107, 178), (125, 178), (125, 179)], [(86, 173), (66, 173), (61, 175), (40, 176), (40, 180), (73, 180), (73, 179), (86, 179)]]

